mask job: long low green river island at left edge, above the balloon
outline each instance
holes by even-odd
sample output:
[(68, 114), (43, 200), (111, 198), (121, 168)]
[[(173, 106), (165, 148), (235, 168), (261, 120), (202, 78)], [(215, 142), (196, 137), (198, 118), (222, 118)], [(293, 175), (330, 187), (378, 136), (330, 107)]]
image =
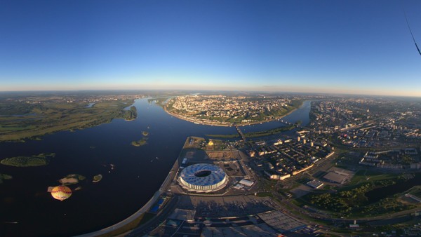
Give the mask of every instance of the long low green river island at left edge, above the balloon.
[(42, 153), (35, 156), (15, 156), (11, 158), (4, 158), (1, 160), (2, 165), (11, 165), (16, 167), (31, 167), (48, 165), (55, 153)]

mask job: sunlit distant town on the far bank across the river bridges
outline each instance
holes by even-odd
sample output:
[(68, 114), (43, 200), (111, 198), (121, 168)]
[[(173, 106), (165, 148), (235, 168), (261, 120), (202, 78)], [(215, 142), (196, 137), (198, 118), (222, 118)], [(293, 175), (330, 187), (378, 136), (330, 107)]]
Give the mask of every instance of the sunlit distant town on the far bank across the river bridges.
[(175, 116), (216, 126), (253, 124), (281, 118), (305, 97), (185, 95), (171, 99), (166, 110)]

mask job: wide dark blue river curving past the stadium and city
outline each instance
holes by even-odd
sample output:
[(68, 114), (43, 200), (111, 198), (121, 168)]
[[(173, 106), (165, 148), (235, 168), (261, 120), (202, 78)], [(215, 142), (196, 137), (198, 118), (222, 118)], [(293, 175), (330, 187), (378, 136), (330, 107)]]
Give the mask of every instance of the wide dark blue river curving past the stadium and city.
[[(0, 159), (54, 152), (51, 163), (16, 168), (0, 165), (12, 180), (0, 184), (0, 236), (73, 236), (116, 224), (144, 205), (168, 175), (188, 136), (234, 134), (233, 127), (204, 126), (180, 120), (147, 99), (135, 101), (135, 121), (114, 119), (94, 128), (46, 135), (41, 141), (1, 142)], [(283, 118), (309, 123), (310, 101)], [(245, 132), (282, 126), (279, 121), (241, 127)], [(147, 144), (133, 140), (149, 133)], [(114, 168), (112, 168), (114, 166)], [(79, 174), (86, 180), (69, 187), (65, 201), (47, 192), (62, 177)], [(94, 175), (102, 174), (98, 183)]]

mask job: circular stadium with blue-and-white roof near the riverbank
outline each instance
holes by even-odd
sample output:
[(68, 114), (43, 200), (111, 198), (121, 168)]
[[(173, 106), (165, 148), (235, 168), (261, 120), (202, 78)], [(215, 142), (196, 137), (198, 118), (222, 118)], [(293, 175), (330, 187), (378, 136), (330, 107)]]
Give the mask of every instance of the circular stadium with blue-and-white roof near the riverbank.
[(192, 191), (217, 191), (227, 184), (227, 175), (216, 165), (199, 163), (182, 170), (179, 182), (182, 187)]

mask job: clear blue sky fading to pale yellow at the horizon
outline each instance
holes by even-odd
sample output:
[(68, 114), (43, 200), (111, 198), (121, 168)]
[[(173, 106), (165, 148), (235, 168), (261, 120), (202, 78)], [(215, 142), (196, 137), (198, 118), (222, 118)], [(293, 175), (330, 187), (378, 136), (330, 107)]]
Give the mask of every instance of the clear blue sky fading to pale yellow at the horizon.
[(421, 1), (0, 0), (0, 91), (421, 96)]

